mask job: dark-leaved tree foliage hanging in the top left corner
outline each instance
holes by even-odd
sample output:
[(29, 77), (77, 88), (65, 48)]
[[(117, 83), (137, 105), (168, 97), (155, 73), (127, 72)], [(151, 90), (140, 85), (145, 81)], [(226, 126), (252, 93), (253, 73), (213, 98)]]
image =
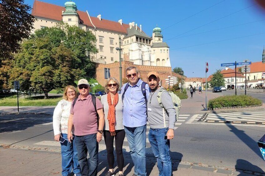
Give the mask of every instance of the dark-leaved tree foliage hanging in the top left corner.
[(12, 58), (19, 42), (30, 35), (34, 23), (34, 17), (28, 13), (30, 9), (23, 0), (0, 1), (0, 66), (2, 60)]

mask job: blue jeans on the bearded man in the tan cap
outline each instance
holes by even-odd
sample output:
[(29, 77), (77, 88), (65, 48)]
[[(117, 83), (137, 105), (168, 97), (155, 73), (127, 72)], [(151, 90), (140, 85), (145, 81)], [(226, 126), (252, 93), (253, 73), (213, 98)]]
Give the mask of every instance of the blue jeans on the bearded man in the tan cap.
[(170, 142), (165, 139), (168, 128), (152, 129), (148, 133), (151, 148), (158, 162), (159, 176), (171, 176), (172, 164), (169, 155)]

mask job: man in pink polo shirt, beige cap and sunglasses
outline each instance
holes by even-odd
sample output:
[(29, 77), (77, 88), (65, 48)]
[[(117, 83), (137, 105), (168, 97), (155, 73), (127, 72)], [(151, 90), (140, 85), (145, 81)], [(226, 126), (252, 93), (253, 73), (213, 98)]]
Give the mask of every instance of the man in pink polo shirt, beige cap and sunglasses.
[[(68, 119), (68, 141), (73, 141), (71, 131), (74, 126), (78, 162), (82, 176), (96, 176), (98, 174), (98, 142), (102, 140), (105, 123), (103, 106), (98, 98), (89, 94), (89, 88), (86, 79), (78, 81), (80, 95), (72, 102)], [(93, 101), (95, 101), (96, 106), (94, 106)], [(87, 159), (87, 152), (89, 160)]]

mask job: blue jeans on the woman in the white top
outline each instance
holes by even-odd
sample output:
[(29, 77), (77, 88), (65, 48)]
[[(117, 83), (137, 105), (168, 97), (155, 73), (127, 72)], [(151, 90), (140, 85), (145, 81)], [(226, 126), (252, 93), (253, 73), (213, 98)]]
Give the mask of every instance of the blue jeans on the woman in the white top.
[(68, 176), (72, 169), (73, 173), (77, 176), (81, 176), (81, 169), (78, 164), (77, 150), (75, 147), (75, 139), (72, 143), (68, 142), (67, 134), (63, 133), (61, 136), (66, 139), (61, 144), (61, 154), (62, 154), (62, 175)]

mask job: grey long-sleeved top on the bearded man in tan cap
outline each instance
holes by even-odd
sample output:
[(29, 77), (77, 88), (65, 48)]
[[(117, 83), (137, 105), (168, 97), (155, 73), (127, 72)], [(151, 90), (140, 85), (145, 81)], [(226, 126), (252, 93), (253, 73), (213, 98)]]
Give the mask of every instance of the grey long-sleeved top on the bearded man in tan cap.
[[(164, 119), (163, 119), (163, 108), (159, 105), (157, 100), (158, 92), (162, 89), (161, 86), (155, 92), (151, 92), (149, 94), (148, 102), (147, 102), (147, 119), (150, 124), (150, 128), (160, 129), (164, 127)], [(163, 106), (165, 107), (165, 119), (166, 119), (166, 127), (170, 129), (174, 129), (176, 122), (176, 109), (173, 106), (172, 98), (168, 92), (163, 92), (161, 94), (161, 101)]]

